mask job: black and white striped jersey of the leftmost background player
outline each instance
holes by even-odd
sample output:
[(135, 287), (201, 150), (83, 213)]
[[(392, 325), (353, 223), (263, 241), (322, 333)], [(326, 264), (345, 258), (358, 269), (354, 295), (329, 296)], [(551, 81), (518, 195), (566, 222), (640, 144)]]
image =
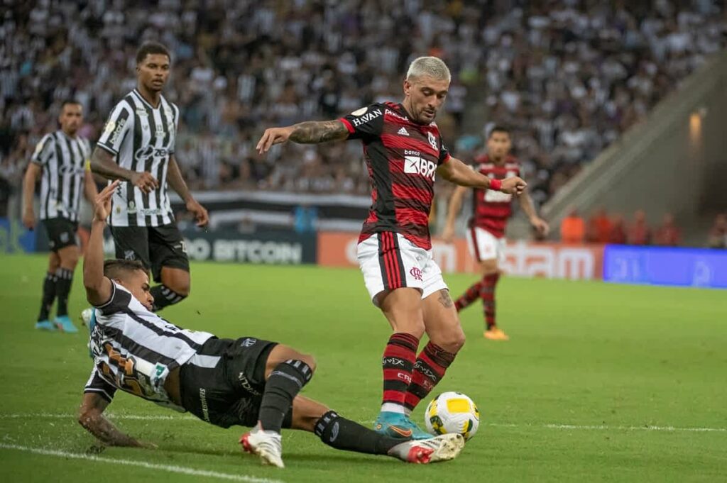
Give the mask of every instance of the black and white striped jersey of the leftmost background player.
[(42, 168), (40, 219), (79, 221), (81, 192), (90, 157), (88, 139), (70, 137), (62, 129), (41, 139), (31, 158), (31, 163)]

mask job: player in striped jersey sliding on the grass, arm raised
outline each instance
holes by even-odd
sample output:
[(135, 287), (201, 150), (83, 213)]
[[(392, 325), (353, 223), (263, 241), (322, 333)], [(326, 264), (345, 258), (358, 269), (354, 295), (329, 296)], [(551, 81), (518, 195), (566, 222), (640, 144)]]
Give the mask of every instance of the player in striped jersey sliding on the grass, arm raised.
[(103, 415), (121, 389), (158, 405), (189, 411), (222, 428), (248, 426), (240, 442), (263, 464), (284, 467), (281, 429), (315, 433), (338, 450), (388, 455), (409, 463), (455, 458), (465, 439), (441, 434), (402, 441), (342, 418), (300, 390), (313, 377), (313, 357), (255, 337), (217, 338), (186, 330), (151, 312), (149, 276), (140, 261), (103, 260), (103, 230), (119, 181), (96, 198), (84, 257), (86, 297), (95, 307), (89, 350), (94, 361), (79, 423), (106, 445), (149, 447)]

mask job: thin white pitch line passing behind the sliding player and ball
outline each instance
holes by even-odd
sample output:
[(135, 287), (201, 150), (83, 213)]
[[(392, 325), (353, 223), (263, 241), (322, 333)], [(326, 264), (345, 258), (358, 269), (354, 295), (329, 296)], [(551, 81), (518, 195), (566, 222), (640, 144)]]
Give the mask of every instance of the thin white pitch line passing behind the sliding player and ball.
[[(137, 421), (168, 421), (172, 419), (197, 419), (191, 415), (137, 415), (137, 414), (113, 414), (108, 413), (110, 419), (128, 419)], [(53, 414), (53, 413), (15, 413), (0, 414), (0, 419), (20, 419), (20, 418), (50, 418), (64, 419), (76, 418), (73, 414)], [(364, 421), (365, 423), (373, 423), (374, 421)], [(513, 423), (484, 423), (483, 426), (493, 426), (495, 428), (542, 428), (542, 429), (573, 429), (573, 430), (599, 430), (599, 431), (683, 431), (692, 433), (727, 433), (727, 428), (680, 428), (678, 426), (606, 426), (606, 425), (578, 425), (578, 424), (513, 424)]]

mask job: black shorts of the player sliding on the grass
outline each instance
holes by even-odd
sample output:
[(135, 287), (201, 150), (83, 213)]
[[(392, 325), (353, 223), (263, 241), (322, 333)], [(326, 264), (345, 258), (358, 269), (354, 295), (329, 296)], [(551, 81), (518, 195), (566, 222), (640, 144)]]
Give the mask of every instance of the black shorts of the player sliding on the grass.
[[(265, 390), (265, 364), (277, 342), (254, 337), (211, 338), (200, 354), (217, 356), (213, 368), (194, 357), (180, 368), (182, 407), (202, 421), (229, 428), (255, 426)], [(209, 361), (209, 358), (204, 358)], [(292, 414), (286, 415), (290, 427)]]

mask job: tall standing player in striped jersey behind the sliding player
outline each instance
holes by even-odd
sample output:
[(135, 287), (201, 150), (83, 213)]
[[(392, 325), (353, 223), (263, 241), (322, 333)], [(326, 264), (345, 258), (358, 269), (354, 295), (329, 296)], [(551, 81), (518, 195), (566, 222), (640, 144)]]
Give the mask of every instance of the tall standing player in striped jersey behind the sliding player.
[(171, 57), (165, 46), (143, 44), (137, 52), (137, 88), (116, 104), (91, 159), (94, 173), (120, 179), (109, 215), (119, 259), (151, 269), (155, 310), (189, 294), (189, 260), (174, 222), (167, 182), (185, 201), (198, 226), (207, 211), (191, 195), (174, 158), (179, 109), (161, 95)]

